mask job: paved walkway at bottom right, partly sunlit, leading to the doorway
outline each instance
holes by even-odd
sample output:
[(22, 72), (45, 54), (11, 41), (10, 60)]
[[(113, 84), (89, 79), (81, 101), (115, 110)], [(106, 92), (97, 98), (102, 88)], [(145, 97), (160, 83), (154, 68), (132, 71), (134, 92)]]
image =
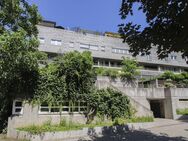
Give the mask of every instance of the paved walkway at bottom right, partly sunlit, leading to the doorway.
[(108, 129), (100, 137), (86, 137), (66, 141), (188, 141), (188, 121), (156, 119), (159, 126), (147, 130), (110, 133)]

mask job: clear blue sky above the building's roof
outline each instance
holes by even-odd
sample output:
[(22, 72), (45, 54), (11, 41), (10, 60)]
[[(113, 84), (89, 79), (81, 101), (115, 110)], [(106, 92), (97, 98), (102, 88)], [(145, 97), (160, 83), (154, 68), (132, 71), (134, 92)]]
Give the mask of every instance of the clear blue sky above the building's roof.
[[(28, 0), (38, 6), (45, 20), (55, 21), (63, 27), (80, 27), (94, 31), (118, 31), (123, 23), (119, 16), (121, 0)], [(136, 8), (135, 8), (136, 9)], [(135, 10), (133, 21), (146, 25), (143, 13)]]

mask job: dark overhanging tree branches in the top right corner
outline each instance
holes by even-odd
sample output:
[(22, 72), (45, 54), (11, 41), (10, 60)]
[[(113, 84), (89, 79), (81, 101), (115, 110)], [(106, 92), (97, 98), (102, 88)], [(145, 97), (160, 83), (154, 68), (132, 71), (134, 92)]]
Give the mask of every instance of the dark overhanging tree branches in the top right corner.
[(119, 28), (133, 55), (149, 54), (156, 46), (159, 58), (165, 58), (171, 52), (181, 52), (182, 57), (188, 57), (188, 1), (123, 0), (122, 19), (134, 14), (135, 4), (145, 14), (148, 26), (141, 30), (141, 25), (128, 22)]

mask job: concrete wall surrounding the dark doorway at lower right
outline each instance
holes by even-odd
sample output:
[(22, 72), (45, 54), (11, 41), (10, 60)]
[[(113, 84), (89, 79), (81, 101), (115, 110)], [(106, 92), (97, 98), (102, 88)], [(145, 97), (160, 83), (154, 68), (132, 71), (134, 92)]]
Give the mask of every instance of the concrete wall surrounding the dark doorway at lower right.
[[(111, 81), (108, 77), (97, 77), (98, 88), (114, 87), (132, 99), (132, 104), (137, 109), (137, 114), (150, 113), (150, 100), (161, 100), (164, 105), (164, 116), (169, 119), (179, 119), (185, 116), (177, 115), (176, 109), (188, 108), (187, 88), (133, 88), (123, 85), (120, 79)], [(187, 101), (181, 101), (186, 99)], [(135, 104), (136, 103), (136, 104)]]

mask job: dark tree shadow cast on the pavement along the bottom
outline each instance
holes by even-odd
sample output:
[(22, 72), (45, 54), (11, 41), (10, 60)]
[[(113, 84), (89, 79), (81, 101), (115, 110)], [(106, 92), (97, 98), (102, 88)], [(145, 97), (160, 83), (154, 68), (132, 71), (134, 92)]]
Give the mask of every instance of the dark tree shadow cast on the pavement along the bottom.
[[(92, 141), (188, 141), (184, 137), (168, 137), (166, 134), (156, 135), (147, 130), (128, 131), (123, 126), (104, 127), (102, 135), (97, 136), (94, 129), (88, 132)], [(87, 141), (80, 139), (79, 141)]]

